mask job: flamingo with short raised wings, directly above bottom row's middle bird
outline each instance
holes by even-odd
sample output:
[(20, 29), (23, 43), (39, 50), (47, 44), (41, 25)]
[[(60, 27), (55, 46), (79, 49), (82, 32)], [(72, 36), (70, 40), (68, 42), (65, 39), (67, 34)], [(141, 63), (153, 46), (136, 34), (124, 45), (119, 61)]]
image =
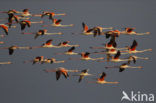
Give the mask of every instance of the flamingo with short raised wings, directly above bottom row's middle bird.
[(89, 57), (90, 53), (89, 52), (82, 52), (81, 58), (69, 58), (69, 60), (103, 60), (104, 57), (101, 58), (91, 58)]

